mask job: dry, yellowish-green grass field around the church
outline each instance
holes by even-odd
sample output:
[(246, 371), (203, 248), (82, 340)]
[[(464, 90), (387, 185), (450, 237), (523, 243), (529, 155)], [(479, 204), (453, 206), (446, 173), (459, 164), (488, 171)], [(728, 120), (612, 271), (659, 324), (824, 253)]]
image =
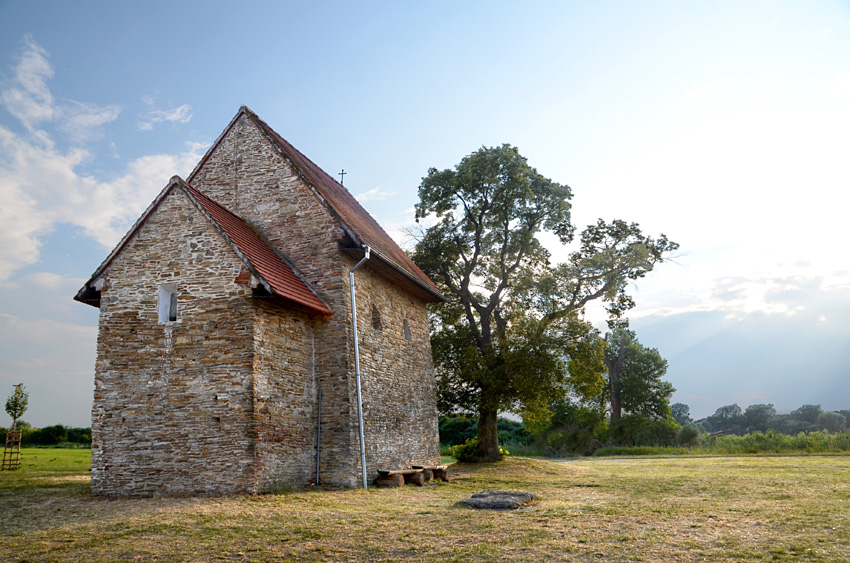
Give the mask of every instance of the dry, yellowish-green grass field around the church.
[[(0, 472), (0, 561), (850, 561), (850, 457), (509, 458), (403, 489), (101, 499), (85, 450)], [(512, 512), (457, 500), (538, 500)]]

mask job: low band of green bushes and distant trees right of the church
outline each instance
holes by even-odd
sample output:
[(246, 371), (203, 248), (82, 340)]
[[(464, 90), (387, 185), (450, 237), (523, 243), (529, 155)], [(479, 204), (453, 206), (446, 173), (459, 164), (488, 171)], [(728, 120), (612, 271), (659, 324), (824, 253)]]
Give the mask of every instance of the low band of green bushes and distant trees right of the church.
[[(726, 405), (706, 418), (693, 420), (689, 407), (675, 403), (667, 414), (650, 417), (626, 413), (615, 423), (598, 406), (567, 401), (551, 406), (545, 422), (500, 418), (499, 444), (512, 454), (563, 457), (649, 453), (760, 453), (850, 451), (850, 410), (824, 411), (803, 405), (777, 414), (772, 404), (742, 410)], [(477, 435), (478, 419), (470, 415), (440, 417), (440, 445), (451, 446)]]

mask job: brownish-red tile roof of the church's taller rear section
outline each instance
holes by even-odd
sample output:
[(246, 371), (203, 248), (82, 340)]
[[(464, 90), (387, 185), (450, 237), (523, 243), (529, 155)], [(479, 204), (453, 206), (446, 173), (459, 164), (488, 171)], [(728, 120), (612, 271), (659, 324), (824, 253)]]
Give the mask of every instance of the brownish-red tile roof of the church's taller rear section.
[[(414, 282), (421, 289), (425, 290), (428, 295), (428, 301), (443, 301), (444, 298), (440, 295), (437, 286), (434, 285), (428, 276), (413, 263), (413, 260), (396, 244), (384, 229), (378, 224), (375, 219), (360, 205), (354, 196), (345, 189), (339, 182), (333, 179), (327, 172), (319, 168), (312, 160), (304, 156), (298, 149), (293, 147), (286, 139), (281, 137), (274, 129), (260, 119), (254, 112), (245, 106), (242, 106), (239, 113), (231, 121), (231, 126), (237, 121), (240, 115), (246, 115), (253, 121), (267, 138), (277, 148), (281, 155), (295, 168), (309, 185), (322, 197), (325, 205), (337, 217), (345, 228), (354, 238), (355, 243), (366, 244), (372, 249), (372, 255), (386, 262), (392, 269), (401, 273), (408, 280)], [(228, 126), (228, 129), (230, 126)], [(227, 129), (225, 130), (225, 133)], [(224, 137), (224, 134), (219, 137), (219, 141)], [(219, 141), (213, 145), (213, 148)], [(213, 151), (207, 153), (207, 156)], [(201, 160), (192, 175), (192, 177), (203, 166), (207, 156)]]

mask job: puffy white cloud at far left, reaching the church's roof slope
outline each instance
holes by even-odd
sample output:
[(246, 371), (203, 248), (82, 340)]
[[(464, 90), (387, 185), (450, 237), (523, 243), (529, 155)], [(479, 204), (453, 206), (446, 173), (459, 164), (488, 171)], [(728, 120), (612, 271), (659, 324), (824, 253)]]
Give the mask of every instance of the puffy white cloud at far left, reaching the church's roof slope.
[(19, 135), (0, 126), (0, 280), (39, 259), (40, 239), (59, 223), (82, 227), (111, 248), (175, 173), (192, 170), (202, 147), (189, 144), (181, 154), (149, 155), (131, 161), (110, 180), (78, 172), (91, 154), (83, 147), (60, 150), (37, 128), (53, 122), (80, 143), (97, 135), (119, 114), (118, 106), (67, 101), (57, 104), (47, 80), (53, 71), (47, 52), (31, 38), (4, 84), (0, 103), (27, 129)]

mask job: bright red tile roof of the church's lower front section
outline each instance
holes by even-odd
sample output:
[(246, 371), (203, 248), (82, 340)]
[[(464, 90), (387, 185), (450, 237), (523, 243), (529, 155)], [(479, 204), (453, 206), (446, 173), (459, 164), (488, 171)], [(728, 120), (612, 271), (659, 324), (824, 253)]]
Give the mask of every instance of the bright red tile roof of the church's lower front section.
[(277, 296), (311, 315), (332, 314), (309, 284), (295, 273), (287, 260), (277, 254), (273, 247), (244, 219), (177, 176), (171, 179), (168, 186), (136, 221), (130, 232), (118, 243), (118, 246), (80, 289), (74, 299), (96, 307), (100, 306), (100, 291), (94, 287), (94, 281), (145, 224), (163, 199), (175, 189), (181, 190), (198, 207), (271, 295)]

